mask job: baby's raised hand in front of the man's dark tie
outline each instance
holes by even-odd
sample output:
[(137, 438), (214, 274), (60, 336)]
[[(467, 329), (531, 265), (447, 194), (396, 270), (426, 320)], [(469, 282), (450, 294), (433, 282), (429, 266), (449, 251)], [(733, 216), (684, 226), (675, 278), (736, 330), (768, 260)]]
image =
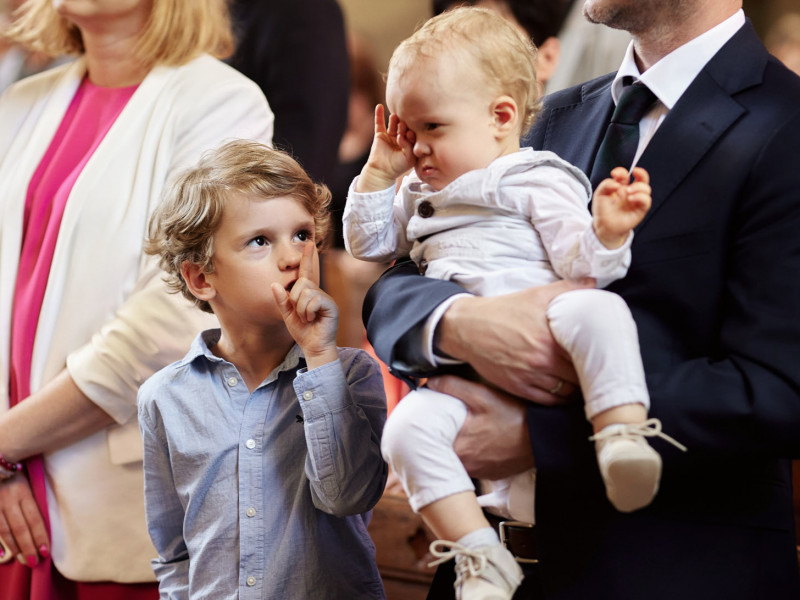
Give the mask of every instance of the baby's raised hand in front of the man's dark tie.
[(633, 169), (633, 183), (627, 169), (617, 167), (611, 179), (597, 186), (592, 199), (594, 232), (609, 250), (619, 248), (631, 230), (650, 210), (650, 175), (641, 167)]

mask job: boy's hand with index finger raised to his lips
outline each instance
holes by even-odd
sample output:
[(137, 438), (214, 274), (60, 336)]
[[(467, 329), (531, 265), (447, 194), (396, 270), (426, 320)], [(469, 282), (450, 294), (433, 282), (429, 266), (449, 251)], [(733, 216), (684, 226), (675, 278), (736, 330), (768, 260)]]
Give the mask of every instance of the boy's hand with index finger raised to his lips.
[(303, 249), (298, 277), (290, 293), (280, 284), (272, 284), (272, 293), (281, 312), (286, 329), (300, 346), (309, 369), (339, 358), (336, 351), (336, 328), (339, 310), (333, 298), (314, 283), (314, 244)]

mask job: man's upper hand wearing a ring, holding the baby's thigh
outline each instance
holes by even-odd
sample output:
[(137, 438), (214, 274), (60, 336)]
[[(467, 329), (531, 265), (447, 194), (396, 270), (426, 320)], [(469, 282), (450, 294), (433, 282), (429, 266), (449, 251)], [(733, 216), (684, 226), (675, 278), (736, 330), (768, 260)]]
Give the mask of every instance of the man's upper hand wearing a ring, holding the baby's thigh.
[(591, 280), (558, 281), (505, 296), (460, 298), (436, 328), (436, 347), (514, 396), (561, 402), (575, 391), (578, 377), (553, 339), (547, 306), (559, 294), (591, 287)]

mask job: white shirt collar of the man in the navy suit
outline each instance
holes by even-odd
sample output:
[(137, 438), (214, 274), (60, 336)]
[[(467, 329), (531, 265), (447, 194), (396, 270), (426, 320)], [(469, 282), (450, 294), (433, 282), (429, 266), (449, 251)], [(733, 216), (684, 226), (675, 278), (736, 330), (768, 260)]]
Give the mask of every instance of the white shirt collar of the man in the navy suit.
[(614, 104), (617, 103), (622, 93), (622, 78), (629, 76), (633, 77), (634, 81), (641, 79), (642, 83), (650, 88), (661, 103), (671, 110), (697, 74), (739, 31), (744, 22), (744, 11), (739, 9), (719, 25), (667, 54), (644, 73), (640, 73), (636, 66), (633, 58), (633, 42), (631, 42), (614, 82), (611, 84), (611, 96)]

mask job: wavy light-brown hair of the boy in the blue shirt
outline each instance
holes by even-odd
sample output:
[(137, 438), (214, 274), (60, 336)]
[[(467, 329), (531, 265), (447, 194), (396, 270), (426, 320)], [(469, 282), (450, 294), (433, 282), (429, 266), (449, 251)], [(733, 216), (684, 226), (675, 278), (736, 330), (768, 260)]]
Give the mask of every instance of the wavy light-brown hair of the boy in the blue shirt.
[(320, 251), (330, 237), (331, 193), (315, 184), (291, 156), (249, 140), (228, 142), (206, 154), (167, 192), (150, 218), (144, 245), (147, 254), (160, 257), (170, 289), (206, 312), (213, 312), (211, 306), (189, 291), (181, 265), (189, 262), (204, 273), (214, 272), (214, 232), (225, 203), (235, 193), (263, 201), (294, 198), (314, 217), (314, 240)]

